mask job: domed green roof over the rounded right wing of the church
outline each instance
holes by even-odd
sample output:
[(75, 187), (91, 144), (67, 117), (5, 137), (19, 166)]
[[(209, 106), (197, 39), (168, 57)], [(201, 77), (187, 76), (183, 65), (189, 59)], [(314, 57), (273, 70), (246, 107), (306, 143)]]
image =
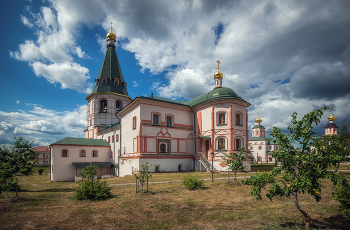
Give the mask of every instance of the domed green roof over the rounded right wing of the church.
[(217, 100), (217, 99), (225, 99), (225, 98), (237, 99), (237, 100), (241, 100), (241, 101), (246, 102), (241, 97), (239, 97), (235, 93), (235, 91), (233, 91), (232, 89), (226, 88), (226, 87), (216, 87), (213, 90), (209, 91), (208, 93), (205, 93), (199, 97), (196, 97), (196, 98), (186, 102), (186, 105), (193, 107), (193, 106), (202, 104), (202, 103), (207, 102), (207, 101)]

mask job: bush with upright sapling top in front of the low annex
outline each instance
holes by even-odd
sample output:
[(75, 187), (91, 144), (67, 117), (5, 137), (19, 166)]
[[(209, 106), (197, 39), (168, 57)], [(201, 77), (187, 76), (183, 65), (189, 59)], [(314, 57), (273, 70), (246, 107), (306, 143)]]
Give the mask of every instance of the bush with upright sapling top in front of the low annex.
[(90, 164), (83, 168), (79, 174), (87, 180), (75, 190), (74, 197), (78, 200), (104, 200), (112, 196), (111, 188), (106, 181), (94, 180), (97, 173), (96, 165)]

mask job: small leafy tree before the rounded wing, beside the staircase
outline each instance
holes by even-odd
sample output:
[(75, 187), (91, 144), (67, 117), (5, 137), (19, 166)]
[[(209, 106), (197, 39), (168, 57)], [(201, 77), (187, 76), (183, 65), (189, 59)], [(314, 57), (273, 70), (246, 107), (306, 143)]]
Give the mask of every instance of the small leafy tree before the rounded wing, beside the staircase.
[(226, 161), (226, 165), (228, 167), (227, 181), (230, 180), (230, 170), (234, 173), (234, 181), (236, 181), (237, 172), (246, 172), (246, 166), (243, 166), (243, 163), (247, 160), (248, 153), (250, 153), (250, 151), (246, 151), (244, 147), (242, 147), (238, 153), (232, 152), (230, 155), (223, 153), (225, 155), (223, 159)]

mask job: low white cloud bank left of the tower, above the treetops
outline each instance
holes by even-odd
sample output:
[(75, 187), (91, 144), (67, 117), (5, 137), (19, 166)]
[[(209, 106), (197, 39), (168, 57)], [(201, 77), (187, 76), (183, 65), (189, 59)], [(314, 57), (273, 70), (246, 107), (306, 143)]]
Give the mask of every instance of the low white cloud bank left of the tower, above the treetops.
[(86, 129), (87, 105), (78, 106), (73, 111), (54, 111), (34, 105), (30, 111), (0, 111), (0, 141), (9, 137), (24, 136), (36, 138), (37, 144), (48, 145), (67, 136), (83, 137)]

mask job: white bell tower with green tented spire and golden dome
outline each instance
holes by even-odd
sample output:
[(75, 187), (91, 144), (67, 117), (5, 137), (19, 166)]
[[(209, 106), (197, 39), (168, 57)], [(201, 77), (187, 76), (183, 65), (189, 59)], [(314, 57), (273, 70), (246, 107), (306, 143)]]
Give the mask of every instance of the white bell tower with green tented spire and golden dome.
[(126, 82), (120, 68), (116, 47), (116, 35), (111, 30), (106, 36), (107, 50), (95, 87), (88, 100), (88, 121), (85, 138), (97, 138), (97, 132), (119, 122), (118, 112), (132, 99), (128, 95)]

